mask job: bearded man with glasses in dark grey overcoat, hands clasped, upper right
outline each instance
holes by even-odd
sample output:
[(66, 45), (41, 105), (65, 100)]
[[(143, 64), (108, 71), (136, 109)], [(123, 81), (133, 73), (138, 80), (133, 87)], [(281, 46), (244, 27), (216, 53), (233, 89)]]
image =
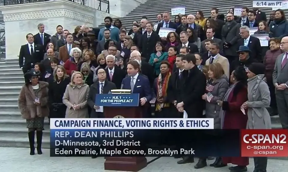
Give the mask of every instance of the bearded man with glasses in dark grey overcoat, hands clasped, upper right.
[[(222, 42), (224, 54), (231, 64), (233, 60), (238, 59), (236, 51), (239, 48), (238, 39), (240, 39), (240, 23), (235, 22), (233, 13), (226, 15), (227, 23), (222, 28)], [(229, 25), (228, 25), (229, 23)]]

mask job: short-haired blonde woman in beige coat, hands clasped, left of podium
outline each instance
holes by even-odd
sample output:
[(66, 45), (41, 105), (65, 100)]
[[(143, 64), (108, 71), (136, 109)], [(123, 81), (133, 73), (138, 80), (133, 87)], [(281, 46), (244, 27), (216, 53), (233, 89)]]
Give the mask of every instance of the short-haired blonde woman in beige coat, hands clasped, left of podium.
[(88, 94), (89, 86), (83, 83), (83, 75), (75, 71), (63, 96), (63, 103), (67, 106), (65, 118), (88, 118)]

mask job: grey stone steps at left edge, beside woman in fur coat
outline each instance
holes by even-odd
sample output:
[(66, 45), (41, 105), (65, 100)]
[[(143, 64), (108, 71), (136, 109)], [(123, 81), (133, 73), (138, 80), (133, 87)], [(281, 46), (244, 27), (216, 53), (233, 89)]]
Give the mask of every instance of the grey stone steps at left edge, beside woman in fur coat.
[[(24, 84), (18, 60), (0, 62), (0, 147), (29, 147), (26, 120), (18, 109), (18, 96)], [(43, 131), (43, 148), (49, 148), (48, 120)]]

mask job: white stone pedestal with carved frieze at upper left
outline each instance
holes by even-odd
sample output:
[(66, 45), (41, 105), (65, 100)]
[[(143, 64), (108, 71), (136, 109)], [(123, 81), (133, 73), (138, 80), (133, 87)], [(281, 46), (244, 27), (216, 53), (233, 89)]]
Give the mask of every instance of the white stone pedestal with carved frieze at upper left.
[(73, 33), (77, 25), (96, 27), (103, 22), (96, 17), (103, 12), (68, 0), (1, 6), (0, 10), (5, 22), (6, 59), (18, 58), (21, 45), (27, 43), (26, 34), (37, 34), (39, 23), (45, 25), (47, 34), (54, 35), (57, 25)]

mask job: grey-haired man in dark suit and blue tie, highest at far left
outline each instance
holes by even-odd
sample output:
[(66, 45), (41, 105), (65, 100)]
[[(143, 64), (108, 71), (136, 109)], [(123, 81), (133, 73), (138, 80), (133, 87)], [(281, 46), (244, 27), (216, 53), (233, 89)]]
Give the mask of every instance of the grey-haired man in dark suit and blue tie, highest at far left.
[[(38, 24), (39, 33), (34, 35), (34, 43), (43, 46), (43, 52), (46, 51), (47, 44), (50, 42), (51, 35), (44, 33), (45, 26), (43, 23)], [(55, 46), (55, 45), (54, 45)]]

